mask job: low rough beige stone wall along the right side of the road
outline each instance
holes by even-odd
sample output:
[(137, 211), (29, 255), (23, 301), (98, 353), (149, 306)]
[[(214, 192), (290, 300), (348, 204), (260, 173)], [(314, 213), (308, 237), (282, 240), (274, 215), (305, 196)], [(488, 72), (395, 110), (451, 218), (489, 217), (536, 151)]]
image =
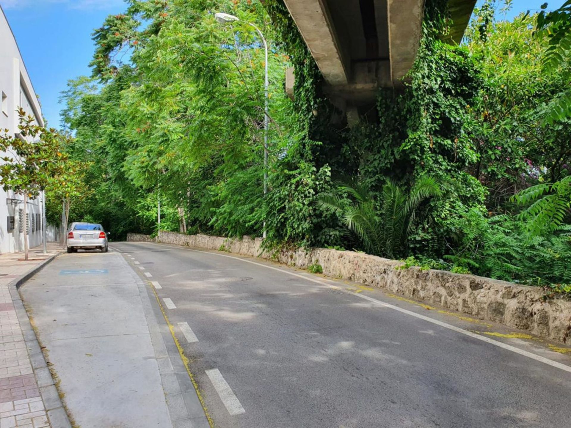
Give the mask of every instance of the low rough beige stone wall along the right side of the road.
[[(129, 233), (128, 241), (150, 241), (147, 235)], [(278, 260), (290, 266), (307, 268), (319, 263), (323, 273), (393, 293), (431, 302), (481, 318), (501, 322), (559, 342), (571, 342), (571, 301), (564, 297), (544, 298), (537, 287), (512, 284), (474, 275), (421, 270), (395, 269), (402, 263), (353, 251), (316, 248), (311, 251), (262, 251), (261, 238), (242, 240), (207, 235), (160, 232), (156, 241), (186, 247), (228, 251)]]

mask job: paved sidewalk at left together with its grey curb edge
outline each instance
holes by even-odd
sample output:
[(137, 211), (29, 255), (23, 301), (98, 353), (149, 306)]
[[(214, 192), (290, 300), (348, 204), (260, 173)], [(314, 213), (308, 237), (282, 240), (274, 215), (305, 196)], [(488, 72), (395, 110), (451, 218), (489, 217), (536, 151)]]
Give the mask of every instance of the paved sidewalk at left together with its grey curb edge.
[(0, 428), (67, 428), (65, 410), (31, 328), (17, 286), (49, 263), (61, 247), (0, 255)]

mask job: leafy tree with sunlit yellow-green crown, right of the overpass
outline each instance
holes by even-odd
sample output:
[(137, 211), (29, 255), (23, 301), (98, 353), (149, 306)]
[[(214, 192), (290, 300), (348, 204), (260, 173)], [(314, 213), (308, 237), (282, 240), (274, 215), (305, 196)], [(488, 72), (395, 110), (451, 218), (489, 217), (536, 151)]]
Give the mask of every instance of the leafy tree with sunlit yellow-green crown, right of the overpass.
[(549, 103), (568, 83), (565, 76), (544, 72), (542, 55), (549, 45), (533, 35), (537, 14), (506, 22), (484, 19), (482, 13), (488, 17), (489, 10), (476, 10), (467, 31), (467, 46), (479, 59), (485, 81), (468, 107), (472, 122), (467, 130), (478, 154), (470, 170), (490, 189), (488, 207), (502, 211), (521, 189), (568, 175), (571, 123), (562, 119), (542, 126)]

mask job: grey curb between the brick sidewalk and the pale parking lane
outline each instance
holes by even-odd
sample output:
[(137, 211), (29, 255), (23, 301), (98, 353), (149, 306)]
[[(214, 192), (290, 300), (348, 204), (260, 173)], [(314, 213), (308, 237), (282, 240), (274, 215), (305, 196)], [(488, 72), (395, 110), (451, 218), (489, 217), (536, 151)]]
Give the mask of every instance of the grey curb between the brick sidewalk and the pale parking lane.
[(46, 407), (47, 417), (50, 420), (50, 426), (51, 428), (72, 428), (65, 407), (59, 397), (57, 387), (55, 386), (56, 381), (52, 377), (50, 369), (47, 366), (46, 358), (44, 357), (39, 345), (38, 337), (35, 334), (20, 293), (18, 292), (18, 289), (27, 280), (42, 270), (47, 264), (54, 261), (61, 253), (63, 253), (63, 250), (51, 257), (48, 257), (21, 277), (11, 281), (10, 284), (8, 284), (8, 289), (10, 290), (10, 296), (14, 303), (20, 329), (22, 330), (22, 335), (26, 343), (28, 357), (30, 358), (34, 376), (38, 382), (39, 391), (42, 396), (44, 406)]

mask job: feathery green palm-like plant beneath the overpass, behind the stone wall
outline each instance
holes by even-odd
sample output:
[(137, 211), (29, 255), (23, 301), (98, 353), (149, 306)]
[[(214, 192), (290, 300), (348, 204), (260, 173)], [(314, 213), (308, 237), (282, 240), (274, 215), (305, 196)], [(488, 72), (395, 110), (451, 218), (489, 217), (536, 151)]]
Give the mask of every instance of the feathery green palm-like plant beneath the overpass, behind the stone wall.
[(337, 184), (352, 202), (347, 204), (339, 194), (327, 193), (319, 198), (321, 207), (335, 212), (360, 239), (366, 252), (392, 259), (403, 254), (420, 204), (442, 192), (440, 180), (432, 175), (421, 176), (408, 190), (387, 179), (379, 201), (364, 183), (349, 180)]

